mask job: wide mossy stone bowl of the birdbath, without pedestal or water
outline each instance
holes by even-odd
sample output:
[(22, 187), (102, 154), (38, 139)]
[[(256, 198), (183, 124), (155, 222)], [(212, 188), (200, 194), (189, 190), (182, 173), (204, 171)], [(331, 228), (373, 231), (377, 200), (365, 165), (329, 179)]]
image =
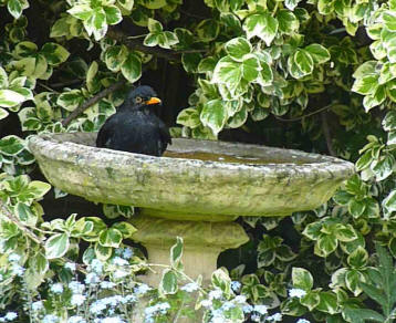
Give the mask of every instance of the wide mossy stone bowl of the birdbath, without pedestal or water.
[(181, 138), (169, 147), (282, 160), (240, 165), (96, 148), (95, 136), (32, 136), (29, 148), (55, 187), (92, 201), (147, 208), (150, 216), (168, 219), (227, 221), (310, 210), (354, 173), (351, 163), (299, 150)]

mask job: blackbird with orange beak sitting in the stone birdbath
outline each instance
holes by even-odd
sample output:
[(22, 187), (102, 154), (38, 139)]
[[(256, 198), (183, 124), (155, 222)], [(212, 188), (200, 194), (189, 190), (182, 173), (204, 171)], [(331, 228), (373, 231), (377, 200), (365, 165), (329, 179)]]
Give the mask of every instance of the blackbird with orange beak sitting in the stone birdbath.
[(154, 114), (161, 103), (156, 96), (147, 85), (132, 90), (100, 129), (96, 147), (161, 156), (171, 138), (169, 129)]

